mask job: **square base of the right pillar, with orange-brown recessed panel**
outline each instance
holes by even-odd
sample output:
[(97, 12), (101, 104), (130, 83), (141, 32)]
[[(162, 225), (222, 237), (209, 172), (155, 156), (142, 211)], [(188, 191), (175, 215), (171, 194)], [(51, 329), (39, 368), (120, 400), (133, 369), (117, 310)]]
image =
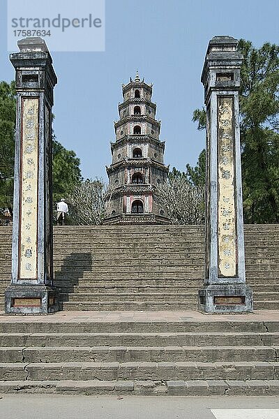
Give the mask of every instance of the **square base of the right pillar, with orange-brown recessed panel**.
[(246, 284), (206, 285), (199, 290), (199, 310), (205, 313), (251, 313), (252, 291)]

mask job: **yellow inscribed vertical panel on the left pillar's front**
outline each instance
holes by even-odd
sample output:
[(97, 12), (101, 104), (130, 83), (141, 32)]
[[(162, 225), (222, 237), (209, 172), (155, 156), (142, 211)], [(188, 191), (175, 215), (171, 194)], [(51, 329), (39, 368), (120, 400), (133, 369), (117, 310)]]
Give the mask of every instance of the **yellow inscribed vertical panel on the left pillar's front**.
[(38, 98), (22, 99), (20, 277), (37, 277)]

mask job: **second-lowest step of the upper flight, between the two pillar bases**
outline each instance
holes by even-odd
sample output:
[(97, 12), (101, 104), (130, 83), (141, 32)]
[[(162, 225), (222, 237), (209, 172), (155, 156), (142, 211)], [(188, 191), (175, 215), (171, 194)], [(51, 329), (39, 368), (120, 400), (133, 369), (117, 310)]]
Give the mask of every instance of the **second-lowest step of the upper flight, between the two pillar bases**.
[(184, 302), (189, 304), (197, 303), (198, 294), (195, 293), (140, 293), (140, 294), (129, 294), (129, 293), (60, 293), (59, 300), (61, 302), (127, 302), (133, 300), (133, 302), (169, 302), (176, 300), (176, 302)]

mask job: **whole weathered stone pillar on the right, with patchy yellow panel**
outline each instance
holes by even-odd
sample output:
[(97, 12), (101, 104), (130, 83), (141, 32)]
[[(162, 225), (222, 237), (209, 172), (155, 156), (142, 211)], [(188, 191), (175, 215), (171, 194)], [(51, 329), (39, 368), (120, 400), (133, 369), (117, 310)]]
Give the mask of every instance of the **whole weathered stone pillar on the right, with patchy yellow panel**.
[(199, 309), (206, 313), (252, 311), (246, 286), (238, 41), (215, 36), (206, 52), (202, 83), (206, 104), (206, 267)]

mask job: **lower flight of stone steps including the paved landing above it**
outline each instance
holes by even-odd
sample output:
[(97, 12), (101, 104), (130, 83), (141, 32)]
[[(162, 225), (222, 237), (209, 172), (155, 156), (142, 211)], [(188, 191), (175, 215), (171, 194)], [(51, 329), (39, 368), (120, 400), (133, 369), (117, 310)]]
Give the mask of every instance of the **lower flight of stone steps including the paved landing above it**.
[(276, 316), (276, 311), (2, 316), (0, 392), (278, 395)]

